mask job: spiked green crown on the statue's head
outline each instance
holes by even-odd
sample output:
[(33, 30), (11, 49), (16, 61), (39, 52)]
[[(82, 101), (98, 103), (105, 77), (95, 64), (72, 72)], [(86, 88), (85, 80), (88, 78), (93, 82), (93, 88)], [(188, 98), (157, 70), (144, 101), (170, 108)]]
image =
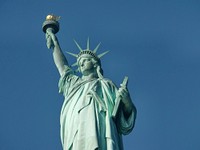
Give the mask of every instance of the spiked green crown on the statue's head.
[(90, 55), (95, 60), (100, 62), (100, 58), (109, 52), (109, 51), (105, 51), (104, 53), (97, 55), (96, 52), (97, 52), (99, 46), (101, 45), (101, 43), (99, 43), (94, 50), (90, 50), (90, 40), (89, 40), (89, 38), (87, 40), (87, 48), (84, 49), (84, 50), (80, 47), (80, 45), (75, 40), (74, 40), (74, 42), (75, 42), (76, 46), (78, 47), (78, 49), (80, 50), (80, 52), (78, 54), (67, 52), (68, 54), (76, 57), (76, 59), (77, 59), (77, 62), (74, 63), (72, 66), (78, 66), (78, 62), (83, 55)]

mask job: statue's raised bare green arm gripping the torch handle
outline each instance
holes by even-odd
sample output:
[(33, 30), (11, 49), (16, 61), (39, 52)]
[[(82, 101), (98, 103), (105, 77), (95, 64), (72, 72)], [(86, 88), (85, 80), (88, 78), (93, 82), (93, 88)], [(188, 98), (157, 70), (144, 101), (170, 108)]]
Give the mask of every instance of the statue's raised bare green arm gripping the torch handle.
[(64, 56), (58, 39), (55, 36), (55, 34), (53, 33), (53, 29), (52, 28), (48, 28), (46, 30), (46, 40), (47, 40), (47, 47), (50, 49), (53, 49), (53, 59), (54, 59), (54, 63), (58, 69), (59, 74), (62, 76), (62, 74), (64, 73), (64, 66), (67, 65), (68, 66), (68, 62), (66, 57)]

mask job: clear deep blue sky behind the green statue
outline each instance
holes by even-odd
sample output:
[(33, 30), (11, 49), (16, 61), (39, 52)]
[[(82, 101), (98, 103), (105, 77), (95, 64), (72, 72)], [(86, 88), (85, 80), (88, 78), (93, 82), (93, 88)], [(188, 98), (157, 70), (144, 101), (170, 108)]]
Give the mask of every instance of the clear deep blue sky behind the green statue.
[(126, 150), (200, 149), (199, 0), (0, 0), (0, 150), (62, 149), (63, 97), (42, 32), (51, 13), (63, 51), (89, 37), (110, 50), (105, 77), (129, 76), (138, 115)]

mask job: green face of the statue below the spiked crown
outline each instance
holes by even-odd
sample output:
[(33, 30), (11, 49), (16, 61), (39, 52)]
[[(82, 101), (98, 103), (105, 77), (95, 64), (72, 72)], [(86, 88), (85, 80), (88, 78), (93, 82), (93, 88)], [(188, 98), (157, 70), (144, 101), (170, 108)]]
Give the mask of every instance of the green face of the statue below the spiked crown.
[(79, 60), (79, 70), (85, 76), (95, 71), (92, 57), (90, 55), (85, 55)]

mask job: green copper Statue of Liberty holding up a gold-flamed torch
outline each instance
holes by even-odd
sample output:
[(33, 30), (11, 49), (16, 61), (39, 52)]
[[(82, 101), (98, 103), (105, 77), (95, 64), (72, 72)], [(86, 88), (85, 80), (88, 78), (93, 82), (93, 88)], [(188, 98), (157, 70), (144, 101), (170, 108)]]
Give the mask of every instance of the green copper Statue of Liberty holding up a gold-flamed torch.
[[(43, 30), (47, 47), (53, 49), (53, 59), (60, 74), (59, 92), (64, 96), (60, 113), (63, 150), (123, 150), (122, 135), (132, 131), (136, 108), (126, 83), (117, 88), (104, 78), (100, 58), (107, 52), (97, 54), (100, 44), (91, 50), (89, 39), (86, 49), (75, 41), (80, 52), (68, 54), (76, 57), (74, 65), (82, 74), (80, 77), (60, 48), (55, 35), (59, 30), (55, 16), (47, 16)], [(113, 116), (114, 109), (117, 114)]]

